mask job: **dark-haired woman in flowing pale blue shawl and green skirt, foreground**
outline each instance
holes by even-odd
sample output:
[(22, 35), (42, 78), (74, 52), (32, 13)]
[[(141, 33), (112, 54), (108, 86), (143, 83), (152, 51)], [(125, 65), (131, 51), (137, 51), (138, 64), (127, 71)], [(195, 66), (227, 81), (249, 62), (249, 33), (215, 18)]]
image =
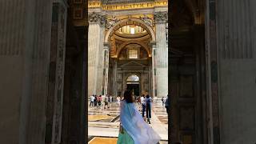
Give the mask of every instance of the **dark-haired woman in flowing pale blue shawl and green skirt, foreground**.
[(142, 118), (134, 105), (132, 93), (126, 91), (121, 102), (118, 144), (156, 144), (160, 136)]

